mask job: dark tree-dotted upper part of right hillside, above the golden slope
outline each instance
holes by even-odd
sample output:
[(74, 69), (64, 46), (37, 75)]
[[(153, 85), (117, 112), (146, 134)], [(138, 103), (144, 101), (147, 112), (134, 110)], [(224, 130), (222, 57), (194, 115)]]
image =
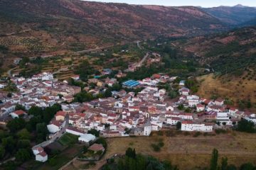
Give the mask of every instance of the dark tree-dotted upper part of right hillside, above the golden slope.
[(221, 74), (241, 75), (248, 69), (256, 70), (256, 27), (192, 38), (178, 45)]

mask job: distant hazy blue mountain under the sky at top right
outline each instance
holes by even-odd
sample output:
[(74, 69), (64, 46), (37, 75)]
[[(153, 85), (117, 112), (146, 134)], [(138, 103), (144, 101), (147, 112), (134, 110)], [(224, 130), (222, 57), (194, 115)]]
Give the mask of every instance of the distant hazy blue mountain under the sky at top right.
[(256, 8), (242, 5), (203, 8), (203, 11), (229, 25), (239, 25), (256, 17)]

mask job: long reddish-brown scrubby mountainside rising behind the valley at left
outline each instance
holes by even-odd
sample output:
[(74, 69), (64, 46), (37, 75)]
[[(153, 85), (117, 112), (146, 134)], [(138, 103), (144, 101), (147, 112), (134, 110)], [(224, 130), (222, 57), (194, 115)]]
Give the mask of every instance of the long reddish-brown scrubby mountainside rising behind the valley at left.
[[(14, 57), (63, 54), (158, 35), (187, 36), (225, 29), (200, 8), (134, 6), (79, 0), (1, 0), (4, 67)], [(6, 57), (8, 56), (8, 58)]]

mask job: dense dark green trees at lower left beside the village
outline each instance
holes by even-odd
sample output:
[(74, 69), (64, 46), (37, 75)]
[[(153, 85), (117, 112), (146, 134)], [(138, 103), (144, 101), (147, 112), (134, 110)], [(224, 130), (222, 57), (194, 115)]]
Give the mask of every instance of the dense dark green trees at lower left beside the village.
[(44, 110), (33, 106), (28, 111), (28, 114), (33, 115), (33, 118), (28, 122), (22, 117), (15, 118), (6, 125), (10, 132), (0, 130), (0, 157), (5, 159), (16, 157), (15, 162), (4, 164), (4, 169), (9, 169), (9, 167), (16, 169), (16, 166), (33, 157), (31, 143), (39, 143), (46, 140), (48, 134), (46, 125), (48, 125), (55, 113), (60, 111), (60, 108), (58, 104)]

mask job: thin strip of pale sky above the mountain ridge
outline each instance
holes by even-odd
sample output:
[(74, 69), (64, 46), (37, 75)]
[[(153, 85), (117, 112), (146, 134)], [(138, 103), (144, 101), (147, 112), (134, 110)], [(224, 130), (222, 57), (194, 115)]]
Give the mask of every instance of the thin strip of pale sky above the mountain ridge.
[(154, 4), (164, 6), (235, 6), (242, 4), (244, 6), (256, 6), (256, 0), (86, 0), (116, 2), (127, 4)]

